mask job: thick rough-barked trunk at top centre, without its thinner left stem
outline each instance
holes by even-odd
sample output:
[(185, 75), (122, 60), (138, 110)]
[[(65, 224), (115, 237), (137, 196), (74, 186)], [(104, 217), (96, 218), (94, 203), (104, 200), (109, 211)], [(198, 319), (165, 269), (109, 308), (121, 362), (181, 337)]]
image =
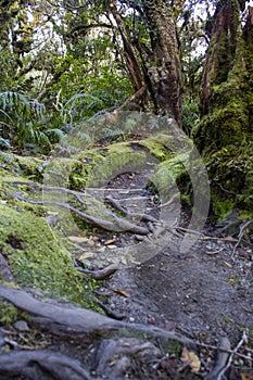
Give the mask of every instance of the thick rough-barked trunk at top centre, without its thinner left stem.
[(142, 4), (151, 30), (149, 74), (155, 105), (181, 126), (181, 64), (172, 10), (163, 0), (143, 0)]

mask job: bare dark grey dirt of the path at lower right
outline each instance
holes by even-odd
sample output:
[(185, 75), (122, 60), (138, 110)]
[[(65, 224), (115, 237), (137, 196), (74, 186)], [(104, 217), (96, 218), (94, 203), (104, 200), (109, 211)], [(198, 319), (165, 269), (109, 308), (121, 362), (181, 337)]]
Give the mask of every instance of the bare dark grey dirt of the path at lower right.
[[(110, 187), (141, 188), (146, 180), (125, 174)], [(186, 213), (182, 219), (186, 224)], [(118, 239), (122, 245), (129, 244), (129, 237)], [(184, 254), (180, 239), (172, 237), (153, 258), (122, 269), (107, 281), (106, 288), (130, 294), (114, 293), (110, 306), (125, 313), (129, 321), (176, 327), (211, 340), (227, 334), (236, 342), (243, 328), (253, 329), (253, 256), (246, 242), (233, 255), (236, 242), (230, 239), (226, 233), (220, 239), (204, 237)]]

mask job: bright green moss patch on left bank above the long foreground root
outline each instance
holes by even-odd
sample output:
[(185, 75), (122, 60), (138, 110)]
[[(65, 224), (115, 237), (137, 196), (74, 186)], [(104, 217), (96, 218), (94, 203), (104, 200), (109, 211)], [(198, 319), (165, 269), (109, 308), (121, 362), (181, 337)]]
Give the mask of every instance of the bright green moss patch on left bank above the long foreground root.
[(0, 249), (17, 283), (91, 305), (92, 281), (84, 281), (42, 217), (0, 204)]

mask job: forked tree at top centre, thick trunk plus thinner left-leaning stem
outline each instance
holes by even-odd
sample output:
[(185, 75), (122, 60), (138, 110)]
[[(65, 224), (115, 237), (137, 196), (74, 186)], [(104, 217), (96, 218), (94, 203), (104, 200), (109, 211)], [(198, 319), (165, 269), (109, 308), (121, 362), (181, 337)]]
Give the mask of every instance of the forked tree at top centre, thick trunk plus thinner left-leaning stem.
[(168, 114), (181, 126), (181, 66), (170, 5), (163, 0), (142, 0), (138, 7), (149, 28), (149, 53), (132, 42), (116, 2), (109, 2), (123, 40), (132, 87), (136, 92), (147, 88), (144, 94), (141, 92), (140, 105), (151, 104), (156, 114)]

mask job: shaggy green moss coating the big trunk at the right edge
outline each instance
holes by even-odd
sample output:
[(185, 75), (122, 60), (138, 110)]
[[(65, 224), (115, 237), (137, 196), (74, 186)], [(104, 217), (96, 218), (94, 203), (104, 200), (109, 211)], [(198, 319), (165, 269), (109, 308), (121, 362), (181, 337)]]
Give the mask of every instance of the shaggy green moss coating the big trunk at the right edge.
[[(237, 15), (236, 10), (233, 16)], [(224, 66), (227, 77), (220, 79), (217, 63), (210, 83), (208, 114), (202, 116), (192, 131), (197, 148), (206, 163), (212, 186), (212, 210), (218, 220), (235, 208), (239, 217), (252, 218), (253, 215), (252, 39), (246, 41), (246, 36), (238, 30), (232, 30), (236, 36), (233, 47), (229, 46), (231, 41), (220, 39), (220, 43), (229, 47), (228, 53), (232, 52), (232, 59), (228, 60), (231, 68)], [(214, 45), (211, 53), (213, 48)], [(216, 53), (223, 52), (224, 49), (218, 47)]]

